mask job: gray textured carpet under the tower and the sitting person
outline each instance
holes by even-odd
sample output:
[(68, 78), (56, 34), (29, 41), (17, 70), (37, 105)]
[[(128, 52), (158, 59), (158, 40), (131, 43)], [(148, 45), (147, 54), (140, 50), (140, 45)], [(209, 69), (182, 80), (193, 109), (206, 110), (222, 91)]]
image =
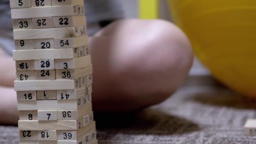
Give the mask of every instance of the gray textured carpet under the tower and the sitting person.
[[(184, 87), (136, 114), (96, 114), (99, 144), (256, 144), (243, 135), (256, 102), (216, 87)], [(16, 127), (0, 127), (0, 144), (18, 144)]]

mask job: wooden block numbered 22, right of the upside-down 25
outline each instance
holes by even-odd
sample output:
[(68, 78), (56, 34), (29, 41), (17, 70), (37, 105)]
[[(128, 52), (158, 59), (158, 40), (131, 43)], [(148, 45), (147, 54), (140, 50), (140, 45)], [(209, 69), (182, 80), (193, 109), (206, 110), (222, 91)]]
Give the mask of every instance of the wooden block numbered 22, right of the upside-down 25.
[(85, 16), (53, 17), (53, 27), (76, 27), (86, 25)]

